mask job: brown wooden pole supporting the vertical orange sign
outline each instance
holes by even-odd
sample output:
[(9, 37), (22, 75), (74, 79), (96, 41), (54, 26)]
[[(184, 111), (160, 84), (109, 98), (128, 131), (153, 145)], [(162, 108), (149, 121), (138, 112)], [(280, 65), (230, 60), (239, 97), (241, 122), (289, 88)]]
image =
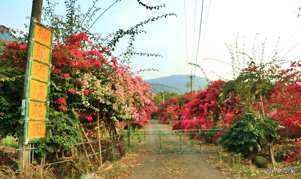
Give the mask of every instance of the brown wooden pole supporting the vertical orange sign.
[[(39, 22), (41, 22), (41, 17), (42, 17), (42, 7), (43, 7), (43, 0), (33, 0), (32, 2), (32, 10), (31, 10), (31, 18), (35, 18)], [(29, 34), (31, 30), (31, 25), (29, 27)], [(29, 47), (29, 45), (27, 46)], [(27, 54), (28, 54), (29, 49), (27, 48)], [(25, 78), (24, 78), (24, 85), (23, 85), (23, 96), (22, 96), (22, 104), (23, 101), (25, 101), (26, 97), (26, 80), (27, 80), (27, 59), (25, 60)], [(25, 121), (25, 116), (21, 115), (21, 121)], [(24, 122), (23, 124), (19, 125), (20, 127), (20, 134), (18, 136), (19, 141), (18, 141), (18, 148), (23, 149), (23, 148), (29, 148), (30, 144), (27, 144), (24, 146)], [(24, 154), (23, 154), (24, 152)], [(18, 150), (18, 160), (22, 161), (24, 156), (25, 161), (29, 161), (29, 150)], [(20, 166), (19, 166), (20, 167)]]

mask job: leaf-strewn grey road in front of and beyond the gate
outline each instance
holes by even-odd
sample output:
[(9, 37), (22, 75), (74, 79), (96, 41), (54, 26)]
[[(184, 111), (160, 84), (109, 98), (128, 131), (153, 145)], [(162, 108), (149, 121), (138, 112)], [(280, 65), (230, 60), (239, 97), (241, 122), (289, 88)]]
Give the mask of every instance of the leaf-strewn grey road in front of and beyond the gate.
[[(147, 131), (170, 130), (159, 120), (149, 120)], [(156, 141), (154, 141), (156, 142)], [(218, 179), (222, 173), (211, 163), (216, 152), (161, 152), (140, 153), (138, 163), (127, 179), (189, 178)]]

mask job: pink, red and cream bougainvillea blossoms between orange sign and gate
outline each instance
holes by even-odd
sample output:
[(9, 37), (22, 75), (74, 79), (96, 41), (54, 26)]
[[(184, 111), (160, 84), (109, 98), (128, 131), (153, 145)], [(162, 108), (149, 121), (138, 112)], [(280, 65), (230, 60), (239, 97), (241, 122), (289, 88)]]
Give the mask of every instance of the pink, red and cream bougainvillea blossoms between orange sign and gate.
[(68, 96), (65, 100), (62, 94), (57, 96), (59, 109), (79, 109), (82, 122), (95, 121), (100, 110), (101, 119), (107, 123), (132, 118), (132, 123), (143, 126), (151, 114), (149, 106), (153, 106), (150, 85), (128, 74), (128, 67), (119, 66), (116, 58), (104, 58), (111, 56), (110, 50), (91, 44), (81, 32), (65, 40), (64, 45), (55, 45), (52, 76), (61, 82), (55, 90), (66, 88)]

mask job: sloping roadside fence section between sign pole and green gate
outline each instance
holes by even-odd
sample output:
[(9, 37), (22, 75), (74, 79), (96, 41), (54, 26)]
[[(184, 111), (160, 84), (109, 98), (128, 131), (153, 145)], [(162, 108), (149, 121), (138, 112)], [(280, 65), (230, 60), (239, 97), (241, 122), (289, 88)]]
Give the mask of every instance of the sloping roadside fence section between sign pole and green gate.
[[(76, 151), (68, 151), (57, 156), (45, 157), (44, 166), (59, 168), (57, 178), (80, 178), (88, 171), (95, 170), (92, 166), (101, 166), (106, 160), (118, 160), (125, 154), (128, 147), (128, 132), (112, 135), (94, 141), (74, 144)], [(101, 152), (100, 152), (101, 148)], [(100, 155), (101, 153), (101, 155)]]

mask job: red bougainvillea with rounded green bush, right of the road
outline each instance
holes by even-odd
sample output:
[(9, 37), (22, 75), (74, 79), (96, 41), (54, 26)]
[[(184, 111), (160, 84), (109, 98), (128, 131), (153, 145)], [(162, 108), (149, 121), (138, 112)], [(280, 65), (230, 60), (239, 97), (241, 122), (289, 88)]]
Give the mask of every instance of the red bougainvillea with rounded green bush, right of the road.
[[(173, 130), (228, 130), (222, 143), (228, 150), (241, 153), (258, 150), (264, 143), (270, 148), (273, 141), (285, 133), (299, 139), (301, 61), (291, 62), (290, 68), (283, 70), (276, 64), (283, 63), (282, 59), (277, 60), (277, 52), (265, 62), (263, 49), (259, 50), (261, 58), (256, 60), (258, 54), (254, 49), (252, 55), (248, 55), (240, 52), (237, 42), (235, 49), (231, 45), (227, 47), (234, 79), (210, 82), (183, 107), (177, 104), (176, 98), (161, 104), (159, 119), (172, 124)], [(202, 136), (202, 140), (210, 142), (211, 139), (211, 136)], [(301, 148), (289, 159), (299, 160), (300, 152)]]

